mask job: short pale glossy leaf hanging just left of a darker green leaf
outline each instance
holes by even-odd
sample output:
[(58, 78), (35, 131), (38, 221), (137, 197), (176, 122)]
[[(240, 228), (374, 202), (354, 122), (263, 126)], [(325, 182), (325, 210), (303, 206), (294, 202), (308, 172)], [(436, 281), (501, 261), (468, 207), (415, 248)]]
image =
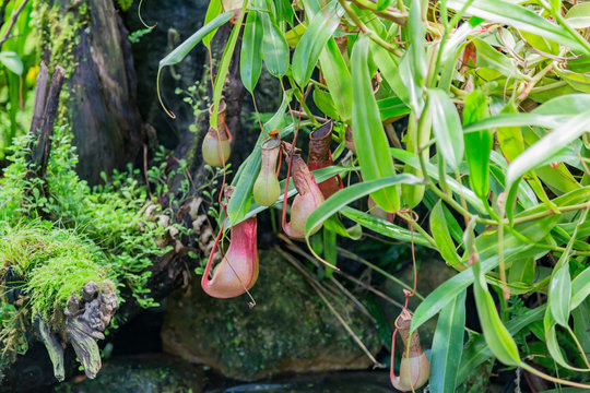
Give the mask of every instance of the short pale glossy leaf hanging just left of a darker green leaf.
[(464, 152), (463, 129), (457, 107), (447, 93), (438, 88), (428, 91), (428, 107), (433, 117), (436, 146), (447, 164), (457, 170)]

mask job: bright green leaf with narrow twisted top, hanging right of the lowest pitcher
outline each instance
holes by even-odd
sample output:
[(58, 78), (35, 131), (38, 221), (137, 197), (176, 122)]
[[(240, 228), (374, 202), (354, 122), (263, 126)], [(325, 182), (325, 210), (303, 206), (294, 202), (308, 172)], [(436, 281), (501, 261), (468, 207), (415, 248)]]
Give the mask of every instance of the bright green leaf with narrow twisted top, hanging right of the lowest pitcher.
[(475, 305), (477, 306), (477, 315), (480, 317), (483, 335), (489, 349), (492, 349), (492, 353), (499, 361), (508, 366), (518, 366), (520, 364), (520, 356), (518, 355), (516, 342), (499, 319), (494, 299), (487, 289), (485, 273), (482, 271), (482, 262), (479, 255), (471, 253), (476, 252), (475, 246), (470, 246), (474, 243), (474, 224), (475, 221), (472, 219), (470, 226), (465, 229), (464, 242), (468, 250), (473, 249), (469, 251), (470, 259), (475, 260), (473, 263), (473, 294), (475, 296)]

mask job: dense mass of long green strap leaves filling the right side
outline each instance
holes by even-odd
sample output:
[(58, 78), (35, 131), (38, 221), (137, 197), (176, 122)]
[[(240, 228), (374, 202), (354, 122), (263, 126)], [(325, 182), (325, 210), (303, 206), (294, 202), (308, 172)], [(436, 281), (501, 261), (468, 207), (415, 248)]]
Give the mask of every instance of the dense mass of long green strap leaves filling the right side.
[[(281, 80), (283, 105), (261, 127), (234, 180), (227, 206), (234, 224), (266, 209), (251, 194), (269, 131), (306, 138), (307, 126), (320, 126), (316, 116), (335, 122), (332, 157), (341, 165), (316, 172), (316, 180), (340, 174), (351, 184), (353, 169), (362, 180), (311, 213), (306, 239), (327, 219), (324, 236), (358, 238), (338, 219), (347, 217), (437, 251), (457, 271), (412, 321), (416, 331), (439, 315), (430, 391), (464, 386), (494, 357), (517, 372), (588, 388), (587, 5), (214, 0), (205, 25), (161, 68), (181, 61), (201, 40), (209, 46), (233, 17), (214, 79), (212, 129), (234, 51), (240, 51), (249, 92), (262, 64)], [(401, 132), (390, 126), (402, 120)], [(366, 195), (370, 213), (382, 218), (349, 206)], [(324, 242), (326, 260), (334, 261), (335, 243)], [(482, 332), (465, 334), (470, 286)]]

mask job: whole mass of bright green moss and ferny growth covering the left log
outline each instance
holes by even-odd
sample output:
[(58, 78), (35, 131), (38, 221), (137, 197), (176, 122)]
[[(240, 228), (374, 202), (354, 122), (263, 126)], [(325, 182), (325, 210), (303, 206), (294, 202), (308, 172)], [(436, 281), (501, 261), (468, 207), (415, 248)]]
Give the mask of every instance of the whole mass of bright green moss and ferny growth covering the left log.
[[(158, 154), (162, 164), (146, 174), (155, 196), (131, 167), (92, 190), (74, 171), (71, 139), (67, 128), (56, 129), (44, 179), (34, 175), (31, 135), (17, 139), (0, 180), (0, 276), (7, 288), (0, 296), (0, 369), (26, 352), (26, 326), (35, 318), (59, 330), (68, 299), (90, 281), (116, 286), (119, 302), (157, 306), (146, 288), (150, 266), (173, 250), (167, 234), (189, 231), (170, 219), (180, 203), (176, 195), (188, 191), (182, 163), (165, 170), (166, 153)], [(170, 194), (168, 176), (178, 175), (185, 193)], [(169, 195), (166, 209), (157, 203), (162, 195)]]

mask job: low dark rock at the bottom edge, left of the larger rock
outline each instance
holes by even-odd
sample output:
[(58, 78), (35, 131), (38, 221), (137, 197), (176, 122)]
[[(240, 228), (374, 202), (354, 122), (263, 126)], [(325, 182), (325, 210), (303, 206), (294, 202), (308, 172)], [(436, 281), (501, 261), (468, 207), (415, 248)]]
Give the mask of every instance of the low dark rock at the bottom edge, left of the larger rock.
[(68, 382), (59, 393), (200, 393), (203, 373), (197, 367), (165, 355), (115, 358), (106, 362), (96, 379)]

